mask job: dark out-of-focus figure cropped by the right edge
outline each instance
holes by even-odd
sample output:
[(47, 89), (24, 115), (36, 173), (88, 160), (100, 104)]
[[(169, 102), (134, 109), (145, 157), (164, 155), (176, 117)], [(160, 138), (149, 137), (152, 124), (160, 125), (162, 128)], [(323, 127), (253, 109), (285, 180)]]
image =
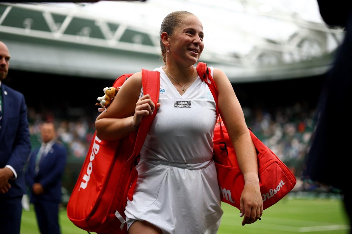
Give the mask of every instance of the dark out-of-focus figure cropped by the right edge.
[(326, 24), (345, 27), (346, 34), (320, 95), (316, 129), (303, 178), (341, 189), (351, 225), (351, 176), (346, 172), (351, 166), (348, 134), (352, 127), (348, 113), (352, 100), (352, 2), (318, 0), (318, 4)]

